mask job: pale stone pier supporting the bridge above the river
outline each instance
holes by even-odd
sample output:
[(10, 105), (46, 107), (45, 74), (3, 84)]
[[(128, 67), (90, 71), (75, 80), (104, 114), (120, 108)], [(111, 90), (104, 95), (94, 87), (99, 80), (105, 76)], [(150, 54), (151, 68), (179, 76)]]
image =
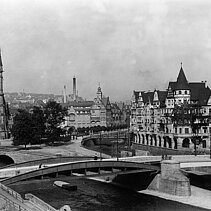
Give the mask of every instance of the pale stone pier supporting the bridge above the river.
[(191, 195), (190, 181), (175, 160), (161, 162), (161, 174), (156, 175), (148, 189), (176, 196)]

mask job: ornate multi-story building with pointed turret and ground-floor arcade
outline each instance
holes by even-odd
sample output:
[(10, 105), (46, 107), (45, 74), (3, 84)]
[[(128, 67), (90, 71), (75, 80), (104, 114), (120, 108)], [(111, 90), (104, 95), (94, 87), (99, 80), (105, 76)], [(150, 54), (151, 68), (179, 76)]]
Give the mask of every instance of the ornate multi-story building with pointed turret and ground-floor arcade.
[(159, 147), (210, 146), (211, 90), (206, 82), (188, 82), (181, 66), (167, 91), (134, 91), (130, 129), (137, 144)]

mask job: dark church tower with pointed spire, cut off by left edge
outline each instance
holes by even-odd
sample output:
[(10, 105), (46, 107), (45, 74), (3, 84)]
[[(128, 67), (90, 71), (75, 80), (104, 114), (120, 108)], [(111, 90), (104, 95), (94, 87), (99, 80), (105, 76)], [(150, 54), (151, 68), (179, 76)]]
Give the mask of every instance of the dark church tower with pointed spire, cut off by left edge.
[(8, 138), (8, 107), (3, 92), (3, 64), (0, 51), (0, 138)]

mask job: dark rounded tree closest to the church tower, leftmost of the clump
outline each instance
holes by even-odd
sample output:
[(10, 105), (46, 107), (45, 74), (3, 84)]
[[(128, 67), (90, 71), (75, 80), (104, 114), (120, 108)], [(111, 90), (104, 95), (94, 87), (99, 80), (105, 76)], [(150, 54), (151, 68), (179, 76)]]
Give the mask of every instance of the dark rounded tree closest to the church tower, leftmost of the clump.
[(31, 143), (33, 139), (33, 124), (32, 118), (28, 111), (18, 110), (18, 114), (14, 117), (14, 124), (12, 127), (13, 143), (14, 145), (26, 145)]

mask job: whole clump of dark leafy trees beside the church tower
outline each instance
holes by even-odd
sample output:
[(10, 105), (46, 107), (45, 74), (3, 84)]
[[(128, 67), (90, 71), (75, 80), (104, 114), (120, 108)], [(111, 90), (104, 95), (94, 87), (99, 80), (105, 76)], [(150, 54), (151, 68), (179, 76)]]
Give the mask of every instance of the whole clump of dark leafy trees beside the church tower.
[(42, 137), (51, 143), (60, 141), (64, 130), (61, 123), (67, 115), (67, 109), (55, 101), (49, 101), (44, 109), (33, 107), (30, 112), (18, 110), (12, 127), (15, 145), (39, 144)]

